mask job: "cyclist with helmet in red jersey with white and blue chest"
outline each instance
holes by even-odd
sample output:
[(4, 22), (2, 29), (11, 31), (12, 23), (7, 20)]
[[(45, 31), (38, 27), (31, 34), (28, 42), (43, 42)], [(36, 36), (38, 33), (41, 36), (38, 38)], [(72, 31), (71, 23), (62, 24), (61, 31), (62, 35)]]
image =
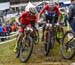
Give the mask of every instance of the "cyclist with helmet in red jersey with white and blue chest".
[[(59, 25), (60, 23), (60, 17), (61, 17), (61, 13), (59, 10), (58, 5), (54, 4), (53, 2), (50, 2), (50, 4), (46, 4), (39, 13), (39, 17), (44, 13), (45, 15), (45, 21), (48, 23), (52, 24), (52, 20), (54, 19), (54, 23), (56, 23), (57, 25)], [(55, 15), (55, 17), (53, 18), (53, 15)], [(44, 29), (45, 26), (43, 27), (43, 36), (42, 36), (42, 40), (44, 38)]]

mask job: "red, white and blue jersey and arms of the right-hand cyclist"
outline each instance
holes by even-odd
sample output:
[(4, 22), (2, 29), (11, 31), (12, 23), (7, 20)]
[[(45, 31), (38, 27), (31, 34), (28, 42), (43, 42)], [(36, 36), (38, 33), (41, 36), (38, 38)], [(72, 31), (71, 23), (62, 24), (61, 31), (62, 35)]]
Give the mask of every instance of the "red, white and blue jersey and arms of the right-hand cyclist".
[[(47, 19), (49, 19), (51, 17), (51, 13), (54, 13), (56, 16), (57, 16), (57, 21), (56, 22), (60, 22), (60, 10), (59, 10), (59, 7), (55, 4), (51, 4), (51, 5), (48, 5), (46, 4), (41, 10), (40, 10), (40, 14), (39, 14), (39, 17), (40, 15), (42, 14), (45, 14), (45, 17)], [(52, 19), (52, 18), (51, 18)], [(49, 19), (50, 20), (50, 19)]]

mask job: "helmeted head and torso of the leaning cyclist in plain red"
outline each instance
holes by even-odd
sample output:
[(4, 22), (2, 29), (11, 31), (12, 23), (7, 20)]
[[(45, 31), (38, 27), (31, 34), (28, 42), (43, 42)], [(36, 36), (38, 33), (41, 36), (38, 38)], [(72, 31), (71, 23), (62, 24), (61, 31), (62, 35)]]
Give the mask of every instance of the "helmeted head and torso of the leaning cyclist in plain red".
[(19, 17), (19, 23), (21, 24), (21, 26), (19, 27), (19, 32), (23, 32), (24, 25), (27, 26), (31, 24), (31, 26), (35, 28), (35, 24), (37, 23), (36, 9), (33, 7), (30, 7), (29, 11), (23, 12), (21, 16)]

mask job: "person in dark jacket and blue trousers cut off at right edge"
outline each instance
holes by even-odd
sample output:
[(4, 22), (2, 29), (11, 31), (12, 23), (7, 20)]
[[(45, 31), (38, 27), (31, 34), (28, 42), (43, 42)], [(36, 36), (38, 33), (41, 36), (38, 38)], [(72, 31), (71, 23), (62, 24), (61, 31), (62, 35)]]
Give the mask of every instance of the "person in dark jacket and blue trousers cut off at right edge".
[(70, 1), (71, 5), (69, 6), (69, 23), (73, 32), (75, 32), (75, 0)]

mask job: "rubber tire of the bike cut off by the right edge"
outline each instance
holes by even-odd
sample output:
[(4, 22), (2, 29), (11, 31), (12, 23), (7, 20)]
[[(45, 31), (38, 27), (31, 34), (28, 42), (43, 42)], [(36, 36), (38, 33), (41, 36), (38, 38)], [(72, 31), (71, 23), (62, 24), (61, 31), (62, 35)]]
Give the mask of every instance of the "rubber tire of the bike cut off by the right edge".
[[(61, 41), (61, 44), (60, 44), (60, 50), (61, 50), (62, 57), (63, 57), (64, 59), (68, 59), (68, 60), (72, 59), (72, 58), (74, 57), (74, 55), (75, 55), (75, 48), (74, 48), (73, 52), (71, 52), (72, 54), (71, 54), (70, 56), (65, 55), (64, 50), (63, 50), (63, 44), (64, 44), (63, 42), (64, 42), (64, 39), (65, 39), (65, 37), (66, 37), (69, 33), (71, 33), (71, 34), (75, 37), (74, 32), (72, 32), (72, 31), (67, 31), (67, 32), (64, 34), (64, 36), (63, 36), (63, 38), (62, 38), (62, 41)], [(69, 42), (71, 42), (71, 41), (69, 40)], [(68, 43), (69, 43), (69, 42), (68, 42)], [(67, 44), (68, 44), (68, 43), (67, 43)], [(73, 42), (72, 42), (72, 43), (73, 43)]]

